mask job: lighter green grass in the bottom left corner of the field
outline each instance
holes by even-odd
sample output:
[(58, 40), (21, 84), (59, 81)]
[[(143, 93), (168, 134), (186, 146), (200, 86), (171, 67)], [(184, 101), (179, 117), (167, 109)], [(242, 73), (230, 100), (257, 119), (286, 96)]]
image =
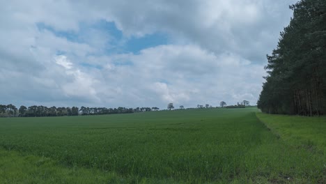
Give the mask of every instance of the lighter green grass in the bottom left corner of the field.
[[(125, 181), (98, 169), (66, 168), (49, 158), (0, 150), (1, 183), (108, 183)], [(127, 182), (126, 182), (127, 183)]]

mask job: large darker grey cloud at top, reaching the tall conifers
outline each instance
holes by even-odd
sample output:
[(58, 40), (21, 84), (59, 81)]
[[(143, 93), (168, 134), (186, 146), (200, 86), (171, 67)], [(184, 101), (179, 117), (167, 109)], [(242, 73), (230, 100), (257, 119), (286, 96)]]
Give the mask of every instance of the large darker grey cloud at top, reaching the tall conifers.
[(288, 24), (289, 1), (93, 1), (95, 10), (114, 20), (126, 35), (142, 36), (166, 31), (177, 39), (215, 52), (234, 52), (253, 62), (277, 44), (279, 31)]

